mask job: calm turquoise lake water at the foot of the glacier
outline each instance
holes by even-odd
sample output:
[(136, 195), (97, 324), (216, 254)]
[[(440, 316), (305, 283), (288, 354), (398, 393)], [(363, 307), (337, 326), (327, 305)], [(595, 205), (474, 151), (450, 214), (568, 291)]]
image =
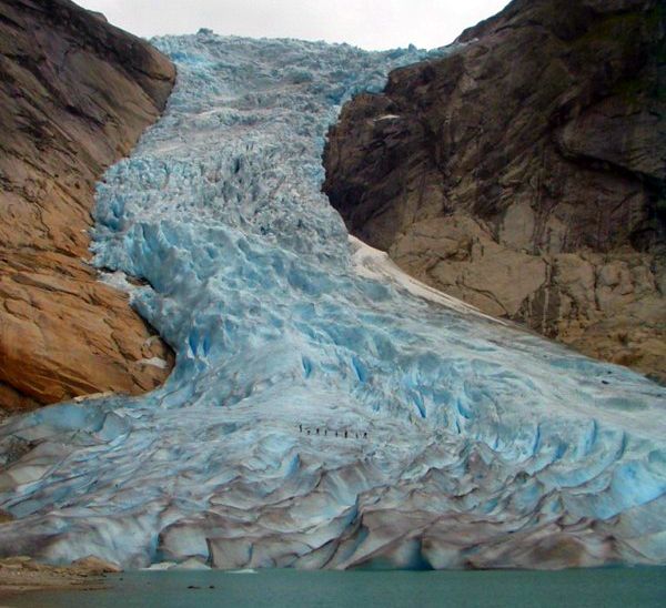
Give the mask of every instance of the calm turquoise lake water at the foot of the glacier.
[[(29, 594), (16, 608), (666, 606), (666, 568), (563, 571), (133, 571), (100, 591)], [(192, 588), (194, 587), (194, 588)]]

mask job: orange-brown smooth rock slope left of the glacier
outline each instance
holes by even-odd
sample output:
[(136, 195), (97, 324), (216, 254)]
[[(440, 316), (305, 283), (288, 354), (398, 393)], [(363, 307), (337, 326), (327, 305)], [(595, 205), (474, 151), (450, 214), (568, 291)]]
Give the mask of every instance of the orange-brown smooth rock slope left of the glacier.
[(85, 260), (94, 183), (174, 78), (150, 44), (68, 0), (0, 0), (0, 411), (168, 375), (170, 349)]

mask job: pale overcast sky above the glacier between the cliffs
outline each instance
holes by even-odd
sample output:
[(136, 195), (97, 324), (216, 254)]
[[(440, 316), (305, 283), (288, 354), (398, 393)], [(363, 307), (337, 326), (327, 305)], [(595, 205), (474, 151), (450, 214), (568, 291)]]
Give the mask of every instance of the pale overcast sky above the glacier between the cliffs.
[(431, 49), (491, 17), (508, 0), (75, 0), (142, 37), (192, 33), (303, 38), (364, 49)]

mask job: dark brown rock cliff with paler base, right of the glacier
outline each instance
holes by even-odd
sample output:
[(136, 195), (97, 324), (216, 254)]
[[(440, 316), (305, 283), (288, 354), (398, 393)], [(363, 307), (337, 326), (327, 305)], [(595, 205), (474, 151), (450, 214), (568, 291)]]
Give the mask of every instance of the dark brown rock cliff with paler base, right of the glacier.
[(666, 9), (515, 0), (342, 111), (350, 231), (485, 312), (666, 379)]

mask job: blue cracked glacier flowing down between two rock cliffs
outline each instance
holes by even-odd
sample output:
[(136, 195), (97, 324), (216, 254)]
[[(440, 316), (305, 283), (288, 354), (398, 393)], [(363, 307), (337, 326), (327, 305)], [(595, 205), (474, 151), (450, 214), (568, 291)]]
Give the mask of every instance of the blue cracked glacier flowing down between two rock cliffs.
[(118, 284), (150, 282), (134, 305), (178, 363), (150, 395), (3, 423), (1, 553), (665, 563), (665, 391), (401, 275), (320, 193), (340, 104), (422, 55), (157, 43), (179, 82), (100, 184), (93, 250)]

